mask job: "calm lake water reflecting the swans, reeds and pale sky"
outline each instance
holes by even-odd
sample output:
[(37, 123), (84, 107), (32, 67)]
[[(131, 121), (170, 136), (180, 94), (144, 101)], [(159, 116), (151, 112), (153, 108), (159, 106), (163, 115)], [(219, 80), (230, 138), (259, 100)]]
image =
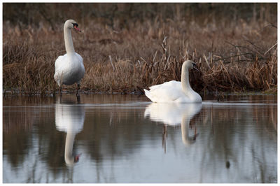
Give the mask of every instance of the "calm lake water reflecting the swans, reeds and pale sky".
[(3, 183), (276, 183), (276, 96), (3, 98)]

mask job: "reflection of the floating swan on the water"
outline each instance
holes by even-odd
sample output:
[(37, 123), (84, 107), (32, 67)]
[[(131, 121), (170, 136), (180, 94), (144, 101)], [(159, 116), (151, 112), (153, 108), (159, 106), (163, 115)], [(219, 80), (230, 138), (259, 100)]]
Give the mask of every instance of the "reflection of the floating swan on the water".
[(201, 103), (151, 103), (146, 107), (144, 115), (155, 122), (163, 122), (165, 127), (181, 124), (182, 141), (188, 146), (195, 142), (197, 136), (189, 135), (190, 120), (200, 113), (201, 108)]

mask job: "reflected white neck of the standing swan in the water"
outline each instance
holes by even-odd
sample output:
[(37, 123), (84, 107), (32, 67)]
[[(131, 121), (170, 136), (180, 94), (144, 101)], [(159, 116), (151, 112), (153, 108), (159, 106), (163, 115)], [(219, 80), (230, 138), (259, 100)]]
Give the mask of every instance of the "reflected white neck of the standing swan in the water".
[(66, 134), (66, 142), (65, 142), (65, 152), (64, 152), (64, 159), (66, 164), (73, 164), (74, 157), (72, 155), (73, 151), (73, 144), (76, 134), (73, 132), (67, 132)]

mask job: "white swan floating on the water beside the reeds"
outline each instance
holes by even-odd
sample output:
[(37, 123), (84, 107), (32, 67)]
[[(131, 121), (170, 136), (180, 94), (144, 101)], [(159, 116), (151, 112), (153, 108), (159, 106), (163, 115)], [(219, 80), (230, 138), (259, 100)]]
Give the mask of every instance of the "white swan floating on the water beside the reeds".
[(146, 96), (153, 102), (158, 103), (201, 103), (202, 98), (191, 87), (188, 80), (188, 69), (198, 69), (191, 60), (183, 62), (181, 82), (169, 81), (145, 90)]

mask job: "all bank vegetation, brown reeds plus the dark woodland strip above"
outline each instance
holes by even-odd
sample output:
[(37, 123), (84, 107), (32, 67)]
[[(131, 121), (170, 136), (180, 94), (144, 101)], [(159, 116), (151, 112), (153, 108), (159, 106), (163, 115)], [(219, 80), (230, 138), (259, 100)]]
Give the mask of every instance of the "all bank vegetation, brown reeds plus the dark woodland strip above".
[(141, 92), (180, 80), (192, 59), (197, 92), (276, 92), (276, 3), (3, 3), (5, 90), (57, 90), (54, 63), (69, 18), (83, 30), (73, 43), (84, 91)]

